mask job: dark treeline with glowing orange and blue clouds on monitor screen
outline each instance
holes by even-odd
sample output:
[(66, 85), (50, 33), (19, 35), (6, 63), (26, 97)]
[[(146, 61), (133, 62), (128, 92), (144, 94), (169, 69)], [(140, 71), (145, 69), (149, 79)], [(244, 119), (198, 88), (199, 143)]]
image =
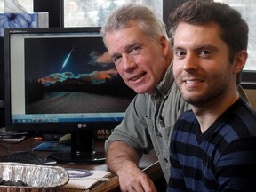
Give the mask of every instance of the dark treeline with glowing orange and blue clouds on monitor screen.
[[(118, 87), (118, 89), (116, 89)], [(72, 72), (53, 73), (26, 82), (28, 103), (44, 98), (45, 92), (87, 92), (122, 98), (133, 98), (116, 68), (74, 76)]]

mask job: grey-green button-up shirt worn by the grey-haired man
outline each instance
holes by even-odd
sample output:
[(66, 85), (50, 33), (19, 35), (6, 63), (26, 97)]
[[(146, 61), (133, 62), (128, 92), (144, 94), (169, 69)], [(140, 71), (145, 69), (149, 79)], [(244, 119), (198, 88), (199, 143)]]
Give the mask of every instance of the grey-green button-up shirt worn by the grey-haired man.
[(135, 148), (140, 156), (155, 149), (164, 172), (165, 180), (170, 176), (170, 137), (178, 116), (190, 109), (181, 99), (172, 76), (172, 66), (157, 85), (156, 95), (138, 94), (126, 110), (124, 120), (105, 142), (124, 141)]

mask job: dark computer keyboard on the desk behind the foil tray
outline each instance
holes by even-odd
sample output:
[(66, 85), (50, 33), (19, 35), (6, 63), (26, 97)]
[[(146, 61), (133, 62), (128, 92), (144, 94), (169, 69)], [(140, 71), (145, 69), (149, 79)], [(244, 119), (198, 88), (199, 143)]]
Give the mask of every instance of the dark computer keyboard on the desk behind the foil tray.
[(0, 162), (17, 162), (23, 164), (56, 164), (57, 162), (49, 157), (39, 156), (28, 151), (0, 156)]

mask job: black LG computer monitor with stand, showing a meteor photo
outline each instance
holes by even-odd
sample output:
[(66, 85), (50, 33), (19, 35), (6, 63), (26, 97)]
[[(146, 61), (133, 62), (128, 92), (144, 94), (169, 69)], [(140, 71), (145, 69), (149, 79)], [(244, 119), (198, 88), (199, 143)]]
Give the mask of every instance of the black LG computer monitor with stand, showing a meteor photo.
[(109, 59), (100, 28), (5, 29), (6, 130), (70, 132), (70, 164), (104, 161), (96, 129), (113, 129), (135, 92)]

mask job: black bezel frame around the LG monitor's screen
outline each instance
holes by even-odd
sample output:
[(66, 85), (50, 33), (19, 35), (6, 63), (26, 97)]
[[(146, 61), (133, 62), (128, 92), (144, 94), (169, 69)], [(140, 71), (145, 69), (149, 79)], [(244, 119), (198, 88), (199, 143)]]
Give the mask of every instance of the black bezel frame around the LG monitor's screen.
[[(122, 120), (104, 122), (76, 122), (76, 123), (13, 123), (11, 116), (11, 78), (10, 78), (10, 37), (12, 34), (26, 33), (99, 33), (100, 27), (83, 28), (6, 28), (4, 29), (4, 67), (5, 67), (5, 127), (7, 131), (20, 132), (49, 132), (49, 133), (68, 133), (74, 129), (114, 129)], [(103, 44), (103, 41), (102, 41)]]

